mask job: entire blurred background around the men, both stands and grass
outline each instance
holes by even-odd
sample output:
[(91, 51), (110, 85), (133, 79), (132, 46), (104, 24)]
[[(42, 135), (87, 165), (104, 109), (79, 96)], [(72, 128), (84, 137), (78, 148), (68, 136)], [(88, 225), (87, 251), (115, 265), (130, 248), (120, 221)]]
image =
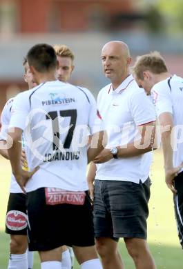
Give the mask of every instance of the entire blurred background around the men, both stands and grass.
[[(182, 14), (183, 0), (0, 0), (0, 114), (6, 100), (27, 89), (23, 57), (35, 43), (64, 43), (73, 50), (75, 70), (70, 82), (89, 88), (95, 97), (109, 83), (100, 55), (104, 43), (111, 40), (126, 42), (133, 61), (137, 55), (157, 50), (170, 72), (183, 76)], [(6, 268), (9, 237), (3, 230), (10, 163), (0, 158), (0, 168), (0, 268)], [(181, 269), (173, 198), (164, 183), (159, 150), (151, 179), (148, 243), (158, 269)], [(119, 247), (126, 269), (133, 268), (124, 246), (120, 243)], [(34, 268), (39, 268), (38, 258)]]

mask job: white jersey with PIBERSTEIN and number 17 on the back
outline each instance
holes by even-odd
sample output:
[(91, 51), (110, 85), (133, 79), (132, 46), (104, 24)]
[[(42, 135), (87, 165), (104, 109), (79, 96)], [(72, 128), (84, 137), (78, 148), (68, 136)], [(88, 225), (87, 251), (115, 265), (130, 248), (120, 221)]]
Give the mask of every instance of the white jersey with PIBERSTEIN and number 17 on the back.
[(47, 81), (17, 95), (10, 127), (24, 130), (29, 169), (39, 166), (27, 192), (42, 187), (88, 190), (86, 140), (95, 119), (95, 99), (86, 88)]

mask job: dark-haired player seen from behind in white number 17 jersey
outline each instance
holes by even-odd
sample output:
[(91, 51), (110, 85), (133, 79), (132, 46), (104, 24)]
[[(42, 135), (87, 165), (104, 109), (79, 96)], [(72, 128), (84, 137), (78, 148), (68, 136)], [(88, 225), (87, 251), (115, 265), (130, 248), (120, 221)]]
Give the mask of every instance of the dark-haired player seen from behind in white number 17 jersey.
[[(8, 133), (13, 139), (8, 154), (17, 182), (23, 190), (26, 186), (29, 248), (39, 251), (42, 269), (61, 268), (63, 245), (73, 246), (82, 269), (102, 268), (94, 248), (86, 182), (86, 165), (103, 148), (103, 132), (97, 132), (93, 139), (99, 140), (87, 152), (88, 128), (91, 134), (96, 132), (95, 99), (87, 89), (55, 81), (57, 57), (52, 46), (33, 46), (27, 59), (39, 86), (14, 101), (10, 127), (15, 132)], [(22, 130), (34, 175), (19, 164)]]

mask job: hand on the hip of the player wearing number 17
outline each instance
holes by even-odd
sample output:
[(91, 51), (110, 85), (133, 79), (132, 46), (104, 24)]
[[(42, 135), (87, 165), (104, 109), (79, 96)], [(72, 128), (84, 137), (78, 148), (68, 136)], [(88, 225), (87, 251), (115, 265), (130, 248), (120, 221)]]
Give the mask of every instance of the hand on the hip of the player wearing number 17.
[(26, 189), (25, 189), (26, 183), (32, 177), (32, 175), (34, 175), (35, 172), (37, 172), (38, 169), (39, 169), (39, 166), (34, 168), (34, 170), (32, 170), (31, 172), (21, 169), (19, 174), (15, 175), (15, 179), (17, 180), (17, 183), (19, 184), (21, 190), (23, 190), (24, 193), (26, 193)]

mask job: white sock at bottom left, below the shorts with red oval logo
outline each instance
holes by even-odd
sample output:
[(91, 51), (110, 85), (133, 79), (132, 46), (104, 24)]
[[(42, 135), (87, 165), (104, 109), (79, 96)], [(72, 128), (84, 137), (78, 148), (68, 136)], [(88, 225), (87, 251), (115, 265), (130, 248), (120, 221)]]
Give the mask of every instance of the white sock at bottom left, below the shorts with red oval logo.
[(8, 269), (28, 269), (27, 253), (10, 254)]

